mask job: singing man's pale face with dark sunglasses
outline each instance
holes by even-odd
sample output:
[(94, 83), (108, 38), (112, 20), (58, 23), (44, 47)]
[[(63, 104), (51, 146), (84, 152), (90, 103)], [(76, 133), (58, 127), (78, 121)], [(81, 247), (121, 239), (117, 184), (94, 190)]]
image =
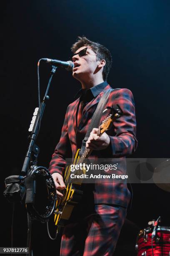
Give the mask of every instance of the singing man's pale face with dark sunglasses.
[[(86, 54), (80, 57), (78, 53), (85, 48), (88, 48)], [(90, 46), (82, 46), (75, 53), (77, 54), (72, 57), (72, 61), (75, 65), (72, 70), (72, 76), (79, 81), (92, 77), (99, 64), (95, 52), (92, 51)]]

